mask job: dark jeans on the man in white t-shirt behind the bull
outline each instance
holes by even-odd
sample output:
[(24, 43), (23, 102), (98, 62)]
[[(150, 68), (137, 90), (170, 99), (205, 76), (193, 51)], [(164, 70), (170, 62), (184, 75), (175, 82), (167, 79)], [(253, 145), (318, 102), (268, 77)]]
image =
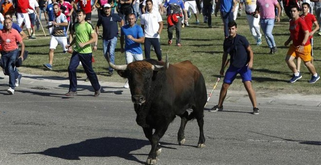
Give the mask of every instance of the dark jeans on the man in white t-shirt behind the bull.
[(150, 58), (150, 47), (153, 45), (158, 61), (161, 60), (161, 51), (160, 51), (160, 40), (159, 38), (145, 38), (144, 41), (144, 52), (145, 58)]

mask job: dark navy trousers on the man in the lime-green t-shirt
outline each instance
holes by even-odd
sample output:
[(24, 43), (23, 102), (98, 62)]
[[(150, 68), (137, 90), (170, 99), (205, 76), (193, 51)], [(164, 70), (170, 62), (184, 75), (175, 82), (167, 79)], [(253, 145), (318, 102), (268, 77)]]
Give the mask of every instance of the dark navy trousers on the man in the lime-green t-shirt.
[(87, 74), (87, 77), (91, 83), (91, 86), (94, 88), (95, 91), (100, 89), (100, 84), (98, 82), (97, 75), (95, 71), (92, 69), (91, 66), (91, 58), (92, 53), (79, 53), (77, 51), (73, 51), (70, 59), (70, 63), (68, 66), (68, 74), (69, 74), (69, 92), (77, 91), (77, 74), (76, 69), (79, 65), (79, 61), (81, 62), (84, 70)]

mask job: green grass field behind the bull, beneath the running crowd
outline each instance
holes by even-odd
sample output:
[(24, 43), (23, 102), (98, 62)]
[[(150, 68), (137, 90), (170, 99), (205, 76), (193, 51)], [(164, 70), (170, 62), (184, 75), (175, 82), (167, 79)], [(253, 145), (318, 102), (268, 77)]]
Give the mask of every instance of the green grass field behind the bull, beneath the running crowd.
[[(221, 67), (221, 59), (223, 54), (223, 24), (219, 17), (212, 18), (213, 28), (208, 28), (207, 24), (202, 23), (202, 16), (200, 17), (200, 25), (195, 24), (194, 16), (189, 20), (190, 27), (182, 29), (181, 38), (183, 45), (177, 47), (167, 44), (167, 23), (165, 17), (164, 29), (161, 33), (161, 49), (163, 56), (167, 53), (170, 63), (178, 63), (184, 60), (190, 60), (196, 65), (204, 75), (206, 85), (212, 88), (219, 76)], [(284, 16), (280, 23), (276, 23), (273, 29), (273, 35), (277, 44), (278, 52), (276, 54), (269, 54), (269, 48), (262, 36), (263, 44), (256, 46), (254, 38), (250, 35), (249, 26), (245, 14), (238, 17), (236, 20), (238, 24), (238, 34), (244, 35), (248, 38), (254, 52), (254, 64), (252, 70), (253, 87), (256, 91), (267, 93), (301, 93), (301, 94), (321, 94), (321, 81), (314, 84), (309, 84), (311, 75), (305, 66), (301, 66), (301, 73), (303, 78), (295, 83), (288, 83), (291, 79), (292, 73), (285, 63), (285, 54), (288, 50), (284, 46), (285, 40), (289, 36), (288, 19)], [(139, 20), (138, 20), (139, 24)], [(93, 22), (95, 26), (95, 22)], [(102, 30), (102, 27), (100, 28)], [(261, 31), (262, 33), (262, 31)], [(263, 34), (263, 33), (262, 33)], [(42, 31), (36, 32), (37, 39), (24, 40), (26, 49), (29, 50), (29, 57), (20, 67), (20, 72), (46, 75), (46, 76), (60, 76), (68, 77), (67, 68), (71, 54), (62, 53), (62, 48), (58, 45), (54, 55), (53, 70), (48, 70), (43, 67), (43, 64), (48, 63), (49, 41), (50, 37), (45, 37)], [(175, 35), (174, 35), (175, 36)], [(321, 36), (314, 37), (314, 54), (315, 67), (317, 72), (321, 73)], [(173, 40), (175, 43), (175, 39)], [(143, 48), (143, 47), (142, 47)], [(118, 40), (116, 48), (115, 64), (125, 64), (124, 54), (120, 52), (120, 42)], [(98, 50), (93, 52), (95, 63), (94, 70), (98, 75), (100, 81), (105, 82), (125, 82), (117, 73), (109, 76), (107, 70), (107, 61), (103, 56), (102, 39), (99, 38)], [(156, 58), (154, 52), (151, 53), (152, 58)], [(86, 75), (81, 66), (78, 67), (77, 76), (79, 80), (84, 80)], [(239, 78), (239, 76), (238, 76)], [(216, 90), (219, 90), (221, 82)], [(243, 90), (243, 83), (240, 79), (236, 79), (231, 85), (232, 90)]]

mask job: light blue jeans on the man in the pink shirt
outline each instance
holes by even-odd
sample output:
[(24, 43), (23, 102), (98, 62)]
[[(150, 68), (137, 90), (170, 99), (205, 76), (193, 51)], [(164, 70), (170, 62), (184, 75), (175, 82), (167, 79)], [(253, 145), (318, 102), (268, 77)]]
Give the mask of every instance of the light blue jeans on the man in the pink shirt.
[(268, 18), (268, 19), (261, 18), (260, 19), (261, 28), (264, 33), (264, 37), (267, 40), (268, 48), (273, 48), (276, 46), (275, 41), (274, 41), (274, 37), (272, 35), (272, 30), (274, 27), (274, 20), (275, 20), (274, 18)]

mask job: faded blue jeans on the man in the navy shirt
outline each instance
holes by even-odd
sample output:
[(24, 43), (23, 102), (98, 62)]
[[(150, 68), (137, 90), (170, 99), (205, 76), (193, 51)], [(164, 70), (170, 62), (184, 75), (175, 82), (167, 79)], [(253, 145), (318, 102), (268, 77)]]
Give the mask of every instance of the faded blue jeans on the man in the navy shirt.
[[(104, 56), (107, 60), (107, 52), (109, 53), (110, 56), (110, 62), (112, 64), (115, 64), (115, 48), (117, 44), (117, 37), (111, 38), (111, 39), (103, 39), (103, 51), (104, 51)], [(110, 66), (108, 67), (109, 71), (113, 71)]]

